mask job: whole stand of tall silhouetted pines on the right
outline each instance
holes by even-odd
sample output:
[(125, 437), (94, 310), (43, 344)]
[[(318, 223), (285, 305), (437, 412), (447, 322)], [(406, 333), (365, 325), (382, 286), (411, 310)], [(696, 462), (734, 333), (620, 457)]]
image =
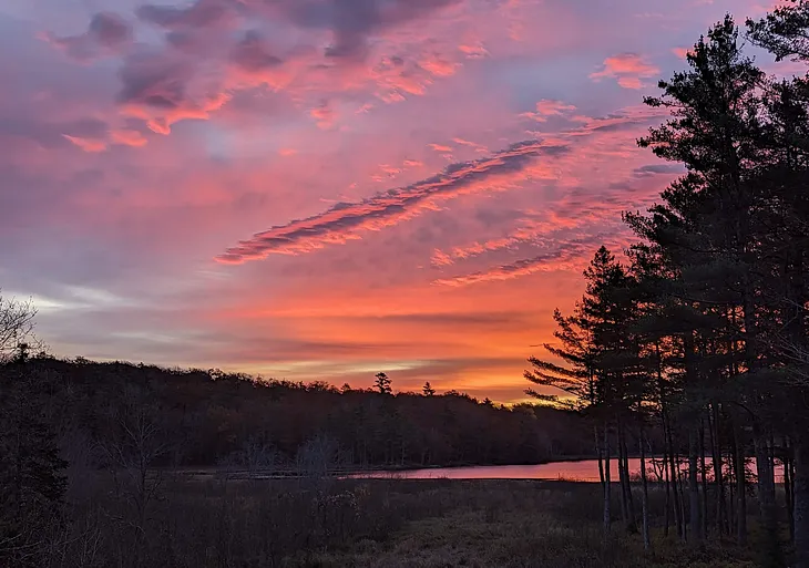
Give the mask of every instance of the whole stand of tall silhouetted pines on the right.
[[(637, 241), (623, 258), (595, 254), (584, 297), (571, 314), (555, 313), (552, 357), (531, 359), (525, 376), (566, 391), (591, 419), (605, 529), (617, 490), (635, 530), (627, 455), (646, 462), (658, 427), (666, 534), (670, 525), (695, 545), (709, 535), (744, 544), (750, 508), (766, 535), (764, 561), (787, 566), (786, 534), (790, 566), (807, 567), (809, 75), (767, 76), (744, 49), (809, 61), (809, 3), (748, 21), (748, 42), (739, 33), (726, 17), (690, 50), (688, 69), (645, 100), (670, 118), (638, 144), (685, 174), (647, 213), (624, 215)], [(638, 520), (648, 547), (645, 465)]]

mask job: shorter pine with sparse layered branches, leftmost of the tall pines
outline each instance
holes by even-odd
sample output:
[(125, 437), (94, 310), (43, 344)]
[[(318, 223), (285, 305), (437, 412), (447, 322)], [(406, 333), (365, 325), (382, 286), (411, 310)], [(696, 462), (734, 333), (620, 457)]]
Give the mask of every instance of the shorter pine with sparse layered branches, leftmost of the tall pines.
[[(636, 317), (634, 280), (605, 247), (601, 247), (584, 272), (586, 292), (574, 314), (554, 312), (559, 345), (544, 349), (562, 364), (537, 358), (529, 359), (532, 370), (528, 381), (554, 388), (567, 394), (526, 394), (546, 402), (564, 404), (595, 421), (595, 441), (604, 489), (604, 528), (611, 523), (611, 428), (615, 428), (618, 456), (622, 517), (635, 530), (635, 514), (629, 487), (627, 435), (643, 385), (639, 359), (632, 326)], [(603, 440), (603, 443), (602, 443)]]

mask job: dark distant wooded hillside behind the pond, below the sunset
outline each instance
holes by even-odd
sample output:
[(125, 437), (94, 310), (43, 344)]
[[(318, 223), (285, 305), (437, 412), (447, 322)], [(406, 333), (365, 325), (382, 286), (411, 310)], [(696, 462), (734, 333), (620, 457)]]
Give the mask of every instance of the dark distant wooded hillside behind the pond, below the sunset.
[(35, 404), (69, 462), (90, 452), (101, 464), (99, 448), (136, 427), (149, 431), (149, 440), (136, 442), (154, 454), (150, 466), (288, 471), (316, 445), (328, 447), (330, 463), (342, 469), (530, 464), (592, 454), (574, 413), (505, 407), (454, 391), (395, 394), (389, 384), (337, 389), (81, 359), (33, 358), (0, 373), (3, 399), (19, 390)]

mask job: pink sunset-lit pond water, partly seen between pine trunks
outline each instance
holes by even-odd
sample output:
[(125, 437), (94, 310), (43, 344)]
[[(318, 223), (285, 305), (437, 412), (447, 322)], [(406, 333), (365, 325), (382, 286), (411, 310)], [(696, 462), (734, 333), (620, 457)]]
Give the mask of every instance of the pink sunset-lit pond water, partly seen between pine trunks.
[[(656, 481), (655, 469), (659, 472), (660, 459), (656, 458), (655, 467), (651, 459), (647, 458), (646, 471), (649, 481)], [(610, 463), (611, 477), (613, 481), (618, 479), (618, 465), (613, 458)], [(687, 463), (683, 462), (683, 468), (687, 468)], [(756, 472), (755, 459), (748, 461), (748, 469)], [(706, 469), (709, 478), (713, 477), (713, 465), (709, 458), (706, 458)], [(635, 476), (641, 473), (641, 459), (629, 459), (629, 475)], [(598, 482), (598, 461), (583, 459), (578, 462), (554, 462), (551, 464), (539, 465), (493, 465), (493, 466), (471, 466), (471, 467), (437, 467), (428, 469), (409, 469), (400, 472), (371, 472), (359, 474), (357, 477), (397, 477), (402, 479), (566, 479), (575, 482)], [(782, 481), (782, 467), (776, 465), (776, 479)]]

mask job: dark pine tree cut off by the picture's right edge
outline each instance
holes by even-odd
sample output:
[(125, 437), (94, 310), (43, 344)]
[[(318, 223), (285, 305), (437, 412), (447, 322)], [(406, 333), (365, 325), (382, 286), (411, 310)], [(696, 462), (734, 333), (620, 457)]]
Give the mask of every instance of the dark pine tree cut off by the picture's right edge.
[[(770, 51), (777, 61), (790, 58), (809, 62), (808, 2), (790, 2), (759, 21), (748, 20), (747, 25), (750, 40)], [(809, 421), (803, 402), (809, 389), (808, 110), (809, 78), (769, 85), (769, 121), (762, 144), (772, 162), (759, 180), (770, 205), (764, 211), (770, 227), (762, 238), (769, 260), (764, 290), (774, 317), (766, 337), (768, 349), (778, 360), (771, 380), (781, 386), (772, 415), (785, 433), (785, 493), (796, 566), (801, 568), (809, 567)], [(788, 475), (792, 464), (793, 477)]]

